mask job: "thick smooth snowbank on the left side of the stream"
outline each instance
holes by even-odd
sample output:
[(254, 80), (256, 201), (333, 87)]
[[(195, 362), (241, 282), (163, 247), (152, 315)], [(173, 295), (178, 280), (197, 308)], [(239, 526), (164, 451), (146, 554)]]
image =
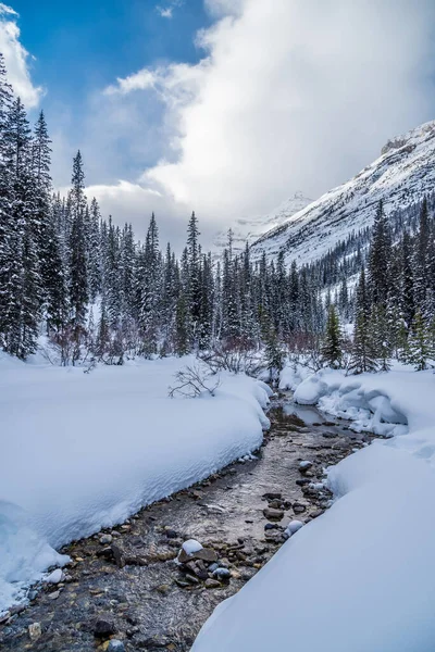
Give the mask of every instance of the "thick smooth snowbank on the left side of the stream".
[(259, 447), (269, 388), (222, 375), (170, 399), (189, 359), (83, 368), (0, 354), (0, 613), (62, 544), (123, 522)]

